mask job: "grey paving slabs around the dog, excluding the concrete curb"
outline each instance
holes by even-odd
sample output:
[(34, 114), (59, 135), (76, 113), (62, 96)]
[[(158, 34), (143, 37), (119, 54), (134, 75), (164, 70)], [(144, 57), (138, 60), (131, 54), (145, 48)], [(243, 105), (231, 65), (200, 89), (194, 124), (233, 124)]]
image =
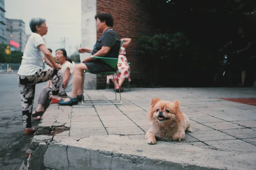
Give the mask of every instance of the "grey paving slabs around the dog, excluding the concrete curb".
[[(90, 90), (85, 99), (113, 99), (114, 93)], [(180, 101), (191, 119), (193, 133), (183, 142), (219, 150), (256, 152), (256, 106), (219, 99), (256, 97), (255, 88), (134, 88), (122, 93), (122, 105), (51, 105), (39, 126), (65, 126), (69, 133), (57, 140), (85, 136), (144, 135), (150, 127), (146, 115), (153, 97)]]

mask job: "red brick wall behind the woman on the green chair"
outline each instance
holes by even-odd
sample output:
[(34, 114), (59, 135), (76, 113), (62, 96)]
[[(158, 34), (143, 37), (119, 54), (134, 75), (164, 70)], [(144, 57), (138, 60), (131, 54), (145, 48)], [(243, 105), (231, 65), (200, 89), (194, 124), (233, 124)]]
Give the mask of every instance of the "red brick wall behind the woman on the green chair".
[[(131, 38), (126, 49), (127, 59), (131, 62), (131, 86), (145, 86), (146, 62), (137, 54), (137, 37), (154, 32), (149, 11), (141, 0), (97, 0), (97, 14), (109, 12), (114, 18), (114, 30), (120, 38)], [(97, 38), (100, 34), (97, 35)], [(97, 89), (106, 87), (106, 77), (97, 77)]]

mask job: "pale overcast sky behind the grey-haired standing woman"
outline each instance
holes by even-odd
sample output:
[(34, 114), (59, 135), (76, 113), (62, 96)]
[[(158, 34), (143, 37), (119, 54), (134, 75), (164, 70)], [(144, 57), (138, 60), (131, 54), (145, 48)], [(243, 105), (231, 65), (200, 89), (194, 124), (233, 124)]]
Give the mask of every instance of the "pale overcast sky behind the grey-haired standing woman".
[(47, 48), (63, 48), (70, 56), (81, 44), (81, 0), (5, 0), (5, 17), (25, 23), (26, 34), (31, 34), (29, 21), (33, 17), (46, 19), (48, 33), (44, 36)]

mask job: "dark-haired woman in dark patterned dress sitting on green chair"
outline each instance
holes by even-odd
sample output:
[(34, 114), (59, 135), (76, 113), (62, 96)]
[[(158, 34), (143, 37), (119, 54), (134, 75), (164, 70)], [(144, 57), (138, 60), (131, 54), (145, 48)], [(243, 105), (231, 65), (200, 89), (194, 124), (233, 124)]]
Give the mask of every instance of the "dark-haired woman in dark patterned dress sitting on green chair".
[[(116, 31), (111, 28), (113, 26), (113, 17), (109, 13), (101, 13), (95, 16), (97, 32), (102, 33), (99, 40), (94, 45), (93, 50), (87, 48), (79, 48), (80, 53), (91, 53), (96, 57), (117, 58), (119, 52), (120, 40)], [(64, 101), (59, 101), (59, 105), (77, 105), (82, 99), (82, 73), (84, 70), (91, 73), (99, 73), (103, 71), (116, 71), (110, 65), (100, 59), (87, 58), (83, 63), (77, 64), (73, 70), (73, 85), (70, 96)]]

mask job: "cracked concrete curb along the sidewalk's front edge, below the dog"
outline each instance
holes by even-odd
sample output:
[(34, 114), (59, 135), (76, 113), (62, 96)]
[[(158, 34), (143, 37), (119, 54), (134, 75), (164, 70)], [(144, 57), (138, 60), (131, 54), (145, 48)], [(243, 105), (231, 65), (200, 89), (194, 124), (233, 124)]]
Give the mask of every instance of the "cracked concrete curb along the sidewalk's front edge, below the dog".
[(44, 166), (55, 170), (241, 170), (256, 167), (253, 152), (213, 150), (182, 142), (149, 145), (143, 137), (107, 135), (53, 141), (44, 153)]

